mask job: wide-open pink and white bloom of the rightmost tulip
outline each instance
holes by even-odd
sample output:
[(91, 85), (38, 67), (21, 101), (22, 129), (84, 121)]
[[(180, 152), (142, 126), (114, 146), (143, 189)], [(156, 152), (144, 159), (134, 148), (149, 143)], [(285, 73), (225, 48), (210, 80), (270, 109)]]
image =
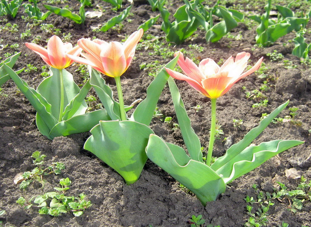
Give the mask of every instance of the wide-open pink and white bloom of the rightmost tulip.
[(246, 52), (238, 53), (235, 60), (230, 56), (221, 67), (210, 58), (203, 59), (197, 66), (189, 58), (185, 60), (182, 52), (176, 52), (175, 56), (177, 54), (178, 64), (187, 76), (165, 68), (166, 71), (175, 79), (187, 81), (194, 89), (209, 98), (223, 96), (236, 82), (256, 71), (263, 59), (260, 58), (251, 69), (243, 73), (250, 57)]

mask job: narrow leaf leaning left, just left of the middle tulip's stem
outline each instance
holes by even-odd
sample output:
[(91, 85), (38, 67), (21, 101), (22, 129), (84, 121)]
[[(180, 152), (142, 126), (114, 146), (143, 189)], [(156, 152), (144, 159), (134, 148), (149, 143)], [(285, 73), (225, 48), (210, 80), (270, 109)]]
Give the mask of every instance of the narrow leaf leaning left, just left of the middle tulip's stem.
[(111, 120), (121, 120), (120, 106), (119, 103), (114, 100), (111, 88), (106, 84), (97, 70), (89, 67), (89, 72), (90, 84), (94, 87), (97, 96), (103, 103)]

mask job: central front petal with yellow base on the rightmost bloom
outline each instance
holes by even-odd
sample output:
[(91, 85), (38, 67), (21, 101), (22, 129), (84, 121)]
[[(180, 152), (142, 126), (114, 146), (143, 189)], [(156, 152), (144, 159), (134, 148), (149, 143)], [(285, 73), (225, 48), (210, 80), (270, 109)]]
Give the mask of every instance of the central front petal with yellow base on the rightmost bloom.
[(219, 77), (210, 77), (202, 80), (202, 86), (211, 98), (218, 98), (225, 94), (223, 91), (231, 82), (232, 78), (228, 77), (228, 72), (221, 72)]

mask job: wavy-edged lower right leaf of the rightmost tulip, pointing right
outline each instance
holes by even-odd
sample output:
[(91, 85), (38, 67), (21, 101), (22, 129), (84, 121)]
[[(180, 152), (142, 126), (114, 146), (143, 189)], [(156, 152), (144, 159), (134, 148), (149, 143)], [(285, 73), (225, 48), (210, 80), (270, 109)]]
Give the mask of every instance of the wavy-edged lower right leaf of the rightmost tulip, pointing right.
[(269, 158), (304, 143), (299, 140), (272, 140), (264, 142), (258, 146), (249, 146), (234, 156), (230, 162), (225, 163), (216, 173), (223, 175), (225, 183), (230, 183), (234, 179), (257, 168)]

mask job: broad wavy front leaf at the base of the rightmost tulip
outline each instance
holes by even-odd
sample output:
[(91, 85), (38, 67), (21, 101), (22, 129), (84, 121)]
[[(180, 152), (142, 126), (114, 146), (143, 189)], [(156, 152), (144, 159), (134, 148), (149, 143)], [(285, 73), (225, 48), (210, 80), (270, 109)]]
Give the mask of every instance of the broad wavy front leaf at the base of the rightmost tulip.
[(146, 154), (153, 163), (192, 191), (203, 206), (208, 201), (215, 201), (220, 193), (225, 192), (225, 182), (210, 167), (188, 159), (181, 147), (165, 143), (157, 135), (150, 135)]

